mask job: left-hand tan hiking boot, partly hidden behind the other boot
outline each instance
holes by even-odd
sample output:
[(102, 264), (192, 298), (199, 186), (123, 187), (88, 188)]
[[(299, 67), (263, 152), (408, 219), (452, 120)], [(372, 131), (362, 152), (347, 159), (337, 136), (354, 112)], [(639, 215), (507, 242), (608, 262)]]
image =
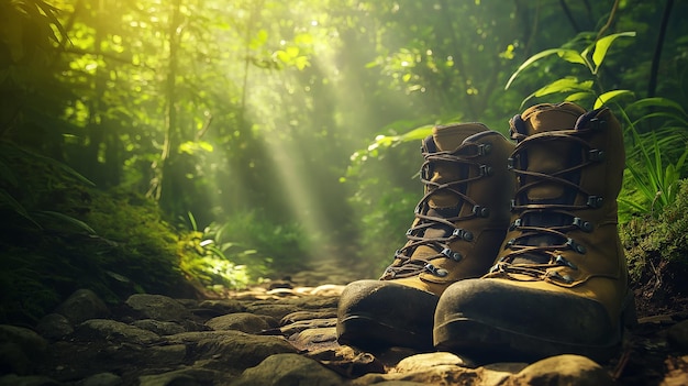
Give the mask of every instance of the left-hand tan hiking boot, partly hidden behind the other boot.
[(485, 275), (509, 227), (513, 144), (480, 123), (436, 126), (422, 144), (425, 195), (408, 242), (379, 280), (349, 284), (340, 298), (337, 335), (362, 349), (432, 348), (440, 295)]

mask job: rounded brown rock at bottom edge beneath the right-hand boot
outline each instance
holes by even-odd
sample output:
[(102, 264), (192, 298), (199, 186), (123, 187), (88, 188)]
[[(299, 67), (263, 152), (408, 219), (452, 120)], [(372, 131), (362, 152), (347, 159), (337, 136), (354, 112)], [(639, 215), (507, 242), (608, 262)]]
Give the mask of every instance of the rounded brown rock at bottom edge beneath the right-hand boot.
[(504, 386), (520, 385), (614, 385), (609, 373), (590, 359), (557, 355), (535, 362), (508, 379)]

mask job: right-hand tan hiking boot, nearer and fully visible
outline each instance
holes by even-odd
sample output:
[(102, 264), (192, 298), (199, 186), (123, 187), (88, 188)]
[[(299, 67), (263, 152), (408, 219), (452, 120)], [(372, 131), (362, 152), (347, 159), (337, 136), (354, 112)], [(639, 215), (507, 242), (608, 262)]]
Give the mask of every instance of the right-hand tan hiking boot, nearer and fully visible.
[(509, 232), (489, 274), (442, 295), (435, 346), (477, 361), (609, 360), (635, 319), (617, 230), (621, 126), (573, 103), (532, 107), (510, 125)]

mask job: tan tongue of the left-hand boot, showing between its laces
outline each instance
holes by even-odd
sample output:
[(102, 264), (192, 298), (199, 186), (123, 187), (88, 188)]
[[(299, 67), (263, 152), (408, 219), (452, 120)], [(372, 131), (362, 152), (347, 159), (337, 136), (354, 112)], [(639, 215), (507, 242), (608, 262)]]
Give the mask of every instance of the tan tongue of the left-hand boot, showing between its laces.
[[(430, 153), (454, 152), (467, 137), (487, 130), (488, 129), (481, 123), (462, 123), (435, 126), (432, 129), (432, 139), (429, 137), (426, 140), (432, 143), (430, 146), (428, 144), (425, 145), (425, 151)], [(435, 147), (434, 151), (429, 148), (432, 147), (433, 144)], [(459, 167), (459, 165), (455, 162), (450, 161), (434, 161), (431, 165), (431, 172), (432, 175), (430, 180), (436, 184), (448, 184), (458, 179), (464, 179), (467, 174), (467, 170), (464, 167)], [(454, 188), (458, 189), (459, 186), (454, 186)], [(457, 217), (460, 211), (462, 203), (463, 200), (456, 194), (442, 189), (433, 192), (428, 199), (429, 209), (425, 214), (444, 219)], [(423, 236), (429, 239), (446, 238), (454, 230), (450, 229), (450, 227), (434, 224), (425, 230)], [(433, 247), (429, 245), (419, 245), (415, 251), (413, 251), (411, 257), (423, 258), (436, 254), (437, 251)]]

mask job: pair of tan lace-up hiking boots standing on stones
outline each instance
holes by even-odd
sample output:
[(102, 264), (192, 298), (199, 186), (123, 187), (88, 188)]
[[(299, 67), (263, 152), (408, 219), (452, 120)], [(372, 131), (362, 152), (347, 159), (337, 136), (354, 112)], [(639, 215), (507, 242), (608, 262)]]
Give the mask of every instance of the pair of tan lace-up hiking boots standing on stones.
[(609, 109), (539, 104), (422, 144), (425, 195), (378, 280), (344, 289), (342, 344), (476, 361), (611, 359), (635, 307), (617, 229), (624, 147)]

